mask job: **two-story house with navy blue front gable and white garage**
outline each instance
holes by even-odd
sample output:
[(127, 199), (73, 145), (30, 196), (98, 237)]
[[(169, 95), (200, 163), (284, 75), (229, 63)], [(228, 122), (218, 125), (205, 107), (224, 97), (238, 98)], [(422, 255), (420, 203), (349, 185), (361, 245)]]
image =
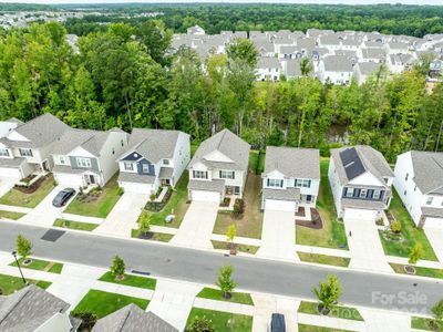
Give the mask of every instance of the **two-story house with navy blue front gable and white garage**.
[(134, 128), (119, 158), (119, 185), (125, 191), (154, 194), (178, 183), (190, 160), (189, 135), (178, 131)]

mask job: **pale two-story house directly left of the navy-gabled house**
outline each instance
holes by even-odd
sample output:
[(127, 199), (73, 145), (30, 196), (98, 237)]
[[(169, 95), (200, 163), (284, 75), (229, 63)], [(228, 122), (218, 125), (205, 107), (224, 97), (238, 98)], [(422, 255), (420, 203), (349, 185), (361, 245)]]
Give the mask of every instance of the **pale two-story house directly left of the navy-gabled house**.
[(52, 152), (53, 175), (59, 185), (104, 186), (117, 172), (116, 158), (127, 148), (127, 133), (69, 129)]

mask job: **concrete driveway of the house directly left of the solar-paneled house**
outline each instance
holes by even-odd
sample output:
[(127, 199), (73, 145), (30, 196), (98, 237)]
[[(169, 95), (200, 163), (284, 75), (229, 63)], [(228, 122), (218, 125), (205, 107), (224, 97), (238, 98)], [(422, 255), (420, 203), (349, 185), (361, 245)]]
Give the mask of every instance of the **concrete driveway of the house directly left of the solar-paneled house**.
[(296, 217), (293, 212), (265, 210), (261, 247), (258, 257), (298, 261)]

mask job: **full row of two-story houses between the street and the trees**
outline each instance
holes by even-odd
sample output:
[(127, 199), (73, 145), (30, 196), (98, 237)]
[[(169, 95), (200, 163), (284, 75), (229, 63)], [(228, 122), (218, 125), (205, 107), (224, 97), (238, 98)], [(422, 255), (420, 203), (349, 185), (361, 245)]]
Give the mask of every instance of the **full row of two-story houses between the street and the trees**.
[[(188, 200), (223, 203), (243, 198), (249, 173), (250, 145), (228, 129), (203, 142), (192, 159), (190, 137), (179, 131), (76, 129), (51, 114), (0, 122), (0, 178), (19, 185), (52, 172), (59, 185), (87, 190), (117, 175), (124, 191), (152, 195), (174, 188), (188, 172)], [(443, 228), (443, 153), (404, 153), (394, 172), (370, 146), (330, 154), (328, 180), (339, 218), (382, 218), (394, 186), (416, 226)], [(261, 179), (262, 210), (315, 208), (319, 151), (268, 146)]]

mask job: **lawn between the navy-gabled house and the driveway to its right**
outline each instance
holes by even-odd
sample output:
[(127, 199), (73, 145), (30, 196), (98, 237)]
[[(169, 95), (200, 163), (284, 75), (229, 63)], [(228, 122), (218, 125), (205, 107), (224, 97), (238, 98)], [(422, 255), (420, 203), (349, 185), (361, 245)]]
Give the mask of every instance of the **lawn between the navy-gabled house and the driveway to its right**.
[[(189, 205), (186, 203), (188, 176), (189, 175), (187, 172), (183, 173), (182, 178), (178, 180), (178, 184), (169, 198), (169, 201), (159, 212), (150, 211), (151, 225), (173, 228), (178, 228), (181, 226), (187, 208), (189, 207)], [(175, 216), (174, 220), (172, 222), (165, 222), (165, 218), (172, 214)]]

